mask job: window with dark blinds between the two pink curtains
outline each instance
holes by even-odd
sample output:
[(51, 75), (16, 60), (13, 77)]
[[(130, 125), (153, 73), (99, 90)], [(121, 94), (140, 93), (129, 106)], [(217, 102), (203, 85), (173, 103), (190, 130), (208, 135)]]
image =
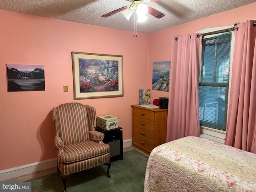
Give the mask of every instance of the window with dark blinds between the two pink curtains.
[(232, 32), (204, 36), (198, 88), (200, 126), (226, 131)]

